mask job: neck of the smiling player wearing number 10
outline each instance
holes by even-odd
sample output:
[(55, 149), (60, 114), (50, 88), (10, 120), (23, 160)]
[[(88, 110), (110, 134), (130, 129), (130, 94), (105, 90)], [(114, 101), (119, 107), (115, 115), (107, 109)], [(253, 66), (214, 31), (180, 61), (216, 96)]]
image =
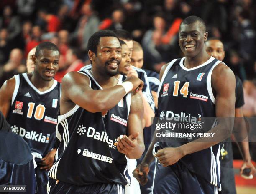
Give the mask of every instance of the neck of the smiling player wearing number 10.
[(52, 79), (51, 81), (46, 81), (43, 80), (40, 76), (37, 76), (35, 73), (28, 74), (28, 78), (40, 92), (48, 90), (54, 83), (54, 79)]

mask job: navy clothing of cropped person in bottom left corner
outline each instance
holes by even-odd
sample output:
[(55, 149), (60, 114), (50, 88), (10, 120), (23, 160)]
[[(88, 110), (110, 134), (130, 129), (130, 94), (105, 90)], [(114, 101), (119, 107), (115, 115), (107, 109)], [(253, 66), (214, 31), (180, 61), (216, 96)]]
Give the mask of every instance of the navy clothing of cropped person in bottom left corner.
[(26, 185), (26, 193), (34, 194), (36, 174), (28, 144), (12, 132), (0, 131), (0, 139), (0, 185)]

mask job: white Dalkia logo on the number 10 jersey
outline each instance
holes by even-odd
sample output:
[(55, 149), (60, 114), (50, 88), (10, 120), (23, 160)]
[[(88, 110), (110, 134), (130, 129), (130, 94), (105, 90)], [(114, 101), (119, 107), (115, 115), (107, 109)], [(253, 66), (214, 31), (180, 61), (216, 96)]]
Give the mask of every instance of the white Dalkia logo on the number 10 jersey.
[(16, 125), (12, 126), (12, 132), (20, 135), (21, 137), (25, 137), (26, 139), (31, 139), (36, 142), (49, 143), (50, 134), (43, 135), (42, 133), (38, 134), (36, 131), (28, 132), (26, 129), (22, 127), (16, 127)]

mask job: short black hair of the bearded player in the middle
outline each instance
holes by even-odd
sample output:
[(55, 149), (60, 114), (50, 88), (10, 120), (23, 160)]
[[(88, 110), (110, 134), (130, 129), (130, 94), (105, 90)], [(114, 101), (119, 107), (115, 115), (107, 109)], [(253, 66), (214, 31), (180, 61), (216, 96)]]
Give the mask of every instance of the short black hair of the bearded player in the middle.
[[(118, 40), (118, 36), (111, 30), (100, 30), (95, 32), (88, 40), (87, 51), (92, 51), (97, 54), (97, 45), (100, 43), (101, 37), (116, 37)], [(120, 42), (120, 40), (119, 40)], [(120, 43), (121, 44), (121, 43)]]

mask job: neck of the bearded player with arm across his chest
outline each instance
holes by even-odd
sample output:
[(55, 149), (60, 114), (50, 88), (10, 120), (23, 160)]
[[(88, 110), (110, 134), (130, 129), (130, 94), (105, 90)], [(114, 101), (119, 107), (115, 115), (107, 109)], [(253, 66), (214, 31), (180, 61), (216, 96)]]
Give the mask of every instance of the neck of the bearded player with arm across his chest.
[(118, 78), (116, 76), (110, 77), (108, 75), (101, 75), (97, 72), (92, 72), (92, 70), (90, 70), (90, 72), (103, 89), (107, 89), (118, 84)]

